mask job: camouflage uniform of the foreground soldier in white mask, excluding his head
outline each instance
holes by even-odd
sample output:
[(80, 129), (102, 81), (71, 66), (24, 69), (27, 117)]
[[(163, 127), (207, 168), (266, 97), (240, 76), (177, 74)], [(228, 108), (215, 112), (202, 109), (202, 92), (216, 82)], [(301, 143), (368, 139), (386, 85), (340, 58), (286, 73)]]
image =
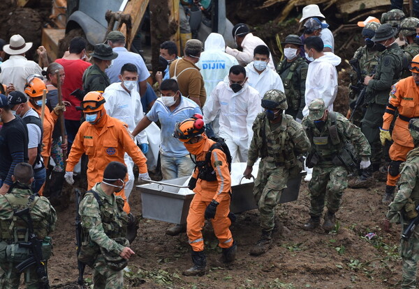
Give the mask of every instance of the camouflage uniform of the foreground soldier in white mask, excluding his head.
[(124, 272), (111, 270), (99, 247), (118, 254), (122, 252), (124, 246), (112, 239), (126, 236), (128, 217), (123, 210), (124, 200), (115, 194), (108, 196), (103, 192), (100, 184), (98, 182), (92, 190), (97, 193), (101, 205), (91, 192), (87, 192), (80, 202), (79, 213), (82, 218), (84, 237), (79, 259), (80, 256), (84, 258), (92, 256), (91, 263), (88, 265), (94, 269), (95, 289), (122, 289)]

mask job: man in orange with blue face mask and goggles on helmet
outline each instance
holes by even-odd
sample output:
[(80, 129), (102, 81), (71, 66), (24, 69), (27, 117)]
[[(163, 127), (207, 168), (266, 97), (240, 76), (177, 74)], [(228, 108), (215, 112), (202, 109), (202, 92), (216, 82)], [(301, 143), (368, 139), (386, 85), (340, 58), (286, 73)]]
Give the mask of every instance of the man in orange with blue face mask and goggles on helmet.
[[(108, 162), (116, 161), (124, 164), (124, 153), (126, 152), (138, 166), (140, 171), (138, 180), (140, 181), (142, 178), (149, 180), (145, 156), (131, 139), (128, 126), (117, 118), (108, 116), (104, 104), (105, 98), (97, 91), (91, 91), (84, 96), (81, 105), (86, 121), (80, 125), (80, 130), (75, 136), (73, 147), (68, 155), (64, 178), (68, 184), (73, 185), (74, 166), (85, 153), (89, 157), (87, 189), (91, 189), (96, 182), (102, 180), (103, 171)], [(124, 189), (117, 192), (117, 196), (124, 199), (124, 211), (129, 214), (130, 208)]]

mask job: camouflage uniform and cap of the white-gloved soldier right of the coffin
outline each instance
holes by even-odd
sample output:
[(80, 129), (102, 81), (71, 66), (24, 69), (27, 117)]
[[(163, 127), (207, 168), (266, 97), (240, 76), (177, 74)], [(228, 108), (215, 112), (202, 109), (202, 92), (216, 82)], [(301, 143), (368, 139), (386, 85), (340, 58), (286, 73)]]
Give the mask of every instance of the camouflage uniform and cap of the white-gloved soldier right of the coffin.
[[(316, 155), (318, 162), (314, 164), (313, 176), (309, 182), (309, 191), (311, 194), (311, 207), (309, 214), (312, 218), (318, 218), (323, 213), (323, 207), (326, 202), (328, 212), (334, 214), (339, 210), (340, 201), (344, 189), (348, 186), (348, 169), (346, 166), (334, 164), (333, 159), (339, 155), (344, 143), (351, 141), (358, 151), (358, 155), (368, 158), (371, 150), (367, 139), (360, 131), (360, 128), (337, 112), (328, 112), (328, 118), (323, 127), (318, 128), (314, 121), (320, 119), (325, 111), (323, 100), (313, 100), (309, 106), (309, 116), (302, 120), (302, 126), (306, 130), (311, 141), (310, 155)], [(317, 118), (314, 111), (318, 112)], [(323, 113), (321, 113), (323, 111)], [(330, 136), (329, 127), (333, 125), (332, 114), (336, 114), (336, 128), (339, 137), (339, 143), (333, 144)], [(318, 118), (318, 116), (320, 116)], [(319, 138), (319, 139), (317, 139)], [(323, 138), (320, 140), (320, 138)]]

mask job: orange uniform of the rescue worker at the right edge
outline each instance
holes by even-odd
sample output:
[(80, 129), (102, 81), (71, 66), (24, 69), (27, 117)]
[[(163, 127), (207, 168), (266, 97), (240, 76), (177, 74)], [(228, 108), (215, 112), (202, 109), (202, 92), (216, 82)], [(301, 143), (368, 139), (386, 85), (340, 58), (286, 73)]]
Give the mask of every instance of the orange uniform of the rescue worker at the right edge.
[[(399, 116), (392, 130), (394, 143), (390, 147), (389, 155), (392, 161), (405, 162), (407, 153), (414, 148), (413, 139), (409, 132), (409, 120), (419, 118), (419, 86), (416, 85), (413, 77), (401, 79), (392, 86), (383, 116), (383, 130), (390, 129), (396, 109), (399, 111)], [(399, 176), (400, 174), (394, 175), (394, 173), (390, 175), (389, 172), (387, 174), (387, 185), (395, 186)]]

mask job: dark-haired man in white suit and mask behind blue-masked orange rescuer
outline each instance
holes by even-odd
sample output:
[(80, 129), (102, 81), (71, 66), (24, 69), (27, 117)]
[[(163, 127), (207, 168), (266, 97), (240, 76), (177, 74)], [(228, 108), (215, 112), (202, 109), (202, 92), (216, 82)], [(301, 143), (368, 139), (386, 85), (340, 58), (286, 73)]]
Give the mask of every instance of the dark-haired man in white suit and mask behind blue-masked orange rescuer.
[[(144, 117), (140, 100), (140, 93), (137, 91), (138, 70), (133, 63), (122, 65), (119, 74), (121, 82), (115, 82), (108, 86), (103, 93), (105, 98), (105, 110), (108, 116), (117, 118), (128, 125), (128, 130), (132, 132), (140, 120)], [(143, 131), (135, 138), (139, 143), (143, 154), (149, 150), (147, 134)], [(128, 182), (125, 185), (125, 196), (128, 200), (134, 186), (134, 162), (131, 157), (125, 153), (124, 162), (128, 168)]]

